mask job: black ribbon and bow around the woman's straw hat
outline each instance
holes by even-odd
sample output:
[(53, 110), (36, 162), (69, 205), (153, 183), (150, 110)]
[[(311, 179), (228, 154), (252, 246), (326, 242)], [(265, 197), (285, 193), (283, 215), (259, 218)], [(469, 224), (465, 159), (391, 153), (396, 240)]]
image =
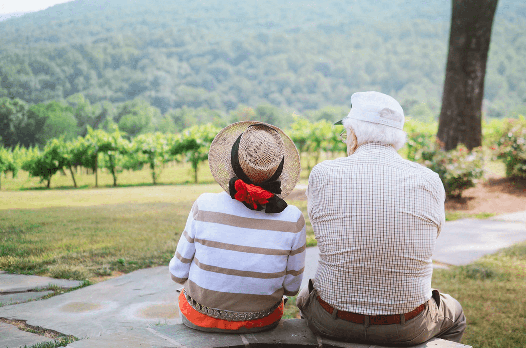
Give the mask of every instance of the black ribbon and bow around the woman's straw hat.
[[(243, 134), (241, 133), (241, 135)], [(245, 174), (245, 172), (241, 168), (241, 165), (239, 164), (239, 143), (241, 142), (241, 135), (239, 135), (234, 145), (232, 145), (232, 152), (230, 156), (230, 163), (232, 165), (232, 169), (234, 170), (234, 173), (236, 174), (236, 176), (232, 177), (230, 179), (230, 182), (228, 183), (230, 197), (232, 197), (232, 199), (236, 199), (235, 198), (235, 195), (237, 193), (237, 189), (235, 186), (236, 181), (241, 180), (245, 184), (259, 186), (262, 189), (265, 189), (266, 191), (274, 194), (274, 196), (268, 199), (268, 203), (265, 204), (265, 207), (262, 206), (261, 204), (258, 204), (257, 208), (254, 209), (254, 207), (251, 206), (250, 204), (247, 204), (246, 202), (242, 202), (243, 204), (245, 204), (247, 208), (251, 210), (265, 209), (265, 213), (281, 213), (287, 207), (287, 202), (285, 202), (284, 199), (277, 196), (281, 194), (281, 181), (277, 179), (281, 175), (281, 172), (283, 171), (285, 156), (283, 156), (283, 158), (281, 159), (281, 163), (276, 169), (276, 172), (274, 172), (274, 174), (266, 182), (261, 183), (259, 185), (254, 184), (248, 178), (247, 174)]]

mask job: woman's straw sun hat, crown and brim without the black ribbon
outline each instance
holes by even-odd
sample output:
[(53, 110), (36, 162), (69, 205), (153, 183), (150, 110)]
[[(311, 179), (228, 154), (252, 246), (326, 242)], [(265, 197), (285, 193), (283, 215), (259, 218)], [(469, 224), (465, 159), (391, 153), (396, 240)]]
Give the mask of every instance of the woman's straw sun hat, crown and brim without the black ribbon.
[[(237, 122), (217, 134), (210, 145), (208, 163), (217, 183), (229, 194), (230, 180), (238, 176), (232, 167), (233, 153), (238, 154), (239, 166), (252, 184), (265, 188), (270, 181), (281, 181), (281, 193), (276, 193), (279, 198), (286, 197), (298, 182), (301, 171), (298, 150), (288, 135), (273, 125)], [(282, 171), (276, 178), (281, 162)]]

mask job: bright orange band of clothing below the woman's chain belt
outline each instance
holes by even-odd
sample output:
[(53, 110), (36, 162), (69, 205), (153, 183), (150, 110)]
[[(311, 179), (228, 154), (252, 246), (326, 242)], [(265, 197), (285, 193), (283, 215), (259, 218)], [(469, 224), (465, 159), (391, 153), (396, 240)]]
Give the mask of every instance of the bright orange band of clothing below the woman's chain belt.
[(190, 303), (188, 303), (184, 292), (181, 292), (179, 294), (179, 308), (185, 317), (197, 326), (201, 326), (203, 328), (238, 330), (241, 328), (262, 328), (263, 326), (275, 323), (276, 321), (280, 320), (283, 315), (284, 304), (283, 301), (281, 301), (280, 305), (274, 310), (274, 312), (263, 318), (254, 320), (230, 321), (210, 317), (209, 315), (199, 312), (194, 307), (192, 307)]

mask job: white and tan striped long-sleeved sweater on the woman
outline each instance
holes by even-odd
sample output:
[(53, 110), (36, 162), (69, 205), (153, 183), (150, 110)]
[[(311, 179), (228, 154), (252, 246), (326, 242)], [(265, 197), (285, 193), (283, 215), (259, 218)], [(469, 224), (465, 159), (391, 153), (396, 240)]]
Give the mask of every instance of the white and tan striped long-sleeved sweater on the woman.
[(294, 296), (305, 266), (305, 219), (250, 210), (226, 192), (197, 198), (170, 260), (171, 279), (208, 307), (238, 312)]

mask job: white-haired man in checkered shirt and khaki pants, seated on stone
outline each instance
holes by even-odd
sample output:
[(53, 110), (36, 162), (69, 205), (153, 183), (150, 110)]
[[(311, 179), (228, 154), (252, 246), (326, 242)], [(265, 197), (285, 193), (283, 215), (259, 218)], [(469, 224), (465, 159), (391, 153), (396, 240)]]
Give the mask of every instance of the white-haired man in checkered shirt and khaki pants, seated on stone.
[(320, 259), (297, 305), (309, 327), (332, 339), (413, 345), (459, 342), (460, 303), (431, 288), (431, 256), (444, 224), (439, 176), (403, 160), (400, 104), (358, 92), (342, 124), (348, 157), (316, 165), (308, 214)]

